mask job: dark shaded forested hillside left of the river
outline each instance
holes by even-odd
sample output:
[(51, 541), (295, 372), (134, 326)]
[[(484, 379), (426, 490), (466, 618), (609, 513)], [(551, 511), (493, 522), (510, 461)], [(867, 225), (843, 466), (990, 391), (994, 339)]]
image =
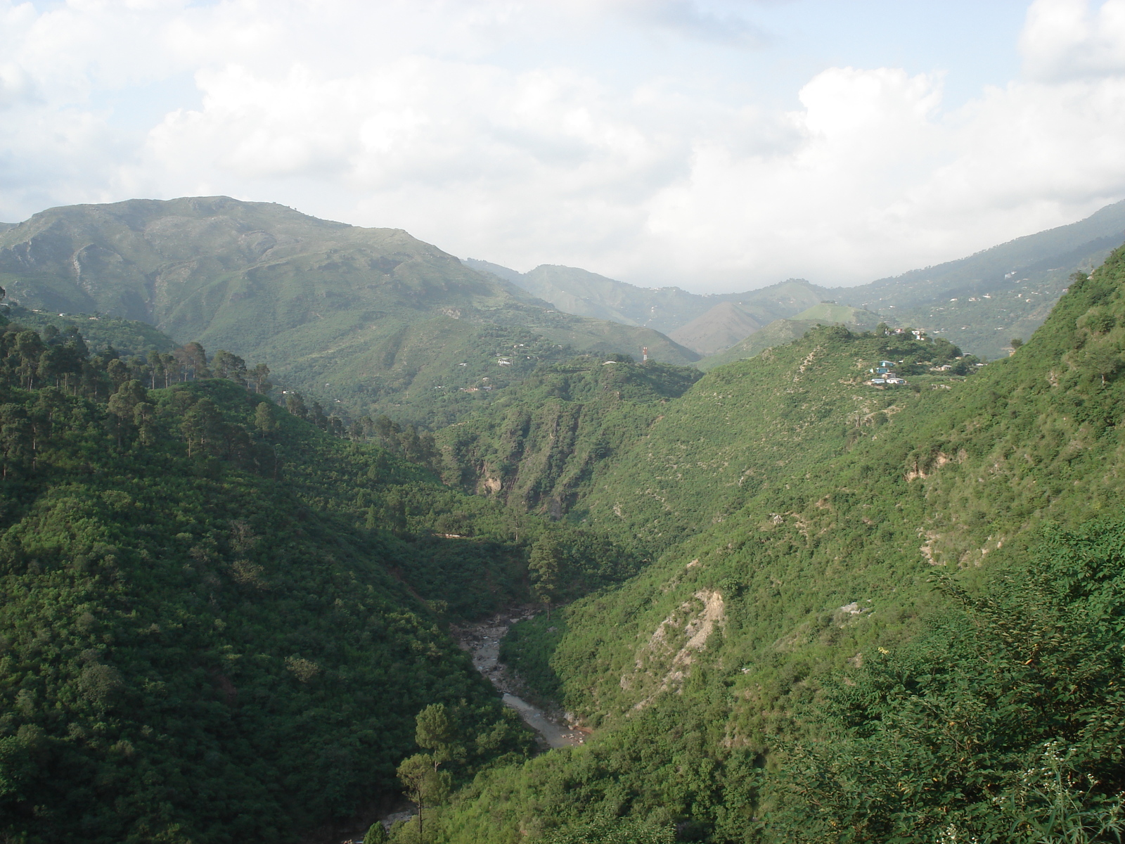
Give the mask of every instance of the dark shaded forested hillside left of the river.
[[(434, 702), (456, 778), (524, 756), (444, 625), (528, 600), (547, 526), (442, 486), (412, 429), (344, 431), (271, 402), (268, 370), (187, 351), (0, 330), (7, 838), (324, 837), (396, 798)], [(568, 595), (636, 571), (558, 535), (583, 549)]]

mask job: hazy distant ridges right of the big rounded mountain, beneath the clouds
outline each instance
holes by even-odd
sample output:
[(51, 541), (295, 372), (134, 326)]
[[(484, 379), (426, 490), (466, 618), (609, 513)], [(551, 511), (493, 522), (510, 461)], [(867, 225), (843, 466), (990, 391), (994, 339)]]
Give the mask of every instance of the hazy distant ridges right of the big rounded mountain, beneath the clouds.
[[(1008, 353), (1010, 338), (1029, 336), (1043, 323), (1071, 273), (1091, 270), (1122, 243), (1125, 201), (1077, 223), (857, 287), (828, 288), (789, 279), (746, 293), (702, 295), (678, 287), (637, 287), (574, 267), (544, 264), (521, 273), (487, 261), (466, 259), (466, 263), (561, 311), (655, 327), (702, 354), (723, 352), (775, 320), (800, 320), (801, 311), (834, 299), (875, 312), (896, 325), (940, 334), (974, 354), (997, 358)], [(728, 304), (758, 326), (721, 307)], [(737, 336), (741, 331), (746, 333)]]

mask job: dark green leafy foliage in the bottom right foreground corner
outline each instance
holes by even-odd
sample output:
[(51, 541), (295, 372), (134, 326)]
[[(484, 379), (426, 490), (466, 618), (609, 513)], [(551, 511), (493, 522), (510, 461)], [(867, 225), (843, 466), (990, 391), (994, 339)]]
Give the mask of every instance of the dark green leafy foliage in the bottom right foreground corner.
[(835, 682), (768, 791), (771, 837), (1104, 841), (1125, 830), (1125, 524), (1051, 530), (1029, 565)]

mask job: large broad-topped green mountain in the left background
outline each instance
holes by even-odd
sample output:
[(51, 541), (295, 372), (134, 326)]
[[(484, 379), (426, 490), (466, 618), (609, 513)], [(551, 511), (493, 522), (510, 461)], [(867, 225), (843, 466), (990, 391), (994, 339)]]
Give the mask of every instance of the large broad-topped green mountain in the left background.
[(35, 311), (140, 320), (264, 360), (278, 383), (357, 415), (441, 404), (450, 421), (474, 401), (462, 388), (543, 356), (699, 359), (651, 329), (561, 313), (402, 230), (228, 197), (42, 212), (0, 232), (0, 286)]

